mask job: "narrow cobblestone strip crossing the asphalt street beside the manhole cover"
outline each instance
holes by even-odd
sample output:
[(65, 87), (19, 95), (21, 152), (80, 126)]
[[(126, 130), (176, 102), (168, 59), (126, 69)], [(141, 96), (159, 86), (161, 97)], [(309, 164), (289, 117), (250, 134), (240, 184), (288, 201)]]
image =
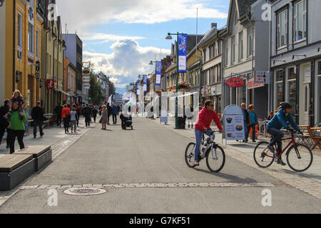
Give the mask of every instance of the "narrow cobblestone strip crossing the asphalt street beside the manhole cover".
[(190, 188), (190, 187), (286, 187), (280, 183), (126, 183), (126, 184), (108, 184), (108, 185), (35, 185), (22, 186), (19, 190), (66, 190), (78, 187), (94, 188)]

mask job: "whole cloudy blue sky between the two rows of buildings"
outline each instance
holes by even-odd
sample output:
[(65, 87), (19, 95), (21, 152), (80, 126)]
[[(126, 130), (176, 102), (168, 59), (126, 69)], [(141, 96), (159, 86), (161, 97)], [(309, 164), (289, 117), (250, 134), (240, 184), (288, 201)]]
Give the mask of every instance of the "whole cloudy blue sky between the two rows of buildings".
[[(150, 61), (170, 54), (167, 33), (198, 34), (225, 26), (230, 0), (56, 0), (63, 33), (83, 41), (83, 61), (91, 61), (115, 83), (116, 92), (138, 75), (152, 73)], [(175, 39), (175, 36), (173, 36)]]

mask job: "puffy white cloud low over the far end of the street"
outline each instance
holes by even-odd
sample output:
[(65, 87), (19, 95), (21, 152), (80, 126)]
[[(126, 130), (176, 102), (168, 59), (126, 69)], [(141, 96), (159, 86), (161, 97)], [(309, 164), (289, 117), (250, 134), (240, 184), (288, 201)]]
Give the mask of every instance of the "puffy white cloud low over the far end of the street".
[[(141, 47), (131, 39), (116, 41), (111, 49), (111, 54), (84, 51), (83, 61), (94, 63), (96, 72), (103, 71), (121, 88), (136, 81), (139, 74), (151, 73), (155, 66), (150, 66), (149, 62), (154, 60), (155, 53), (160, 53), (159, 48)], [(163, 58), (169, 54), (170, 50), (162, 49)]]

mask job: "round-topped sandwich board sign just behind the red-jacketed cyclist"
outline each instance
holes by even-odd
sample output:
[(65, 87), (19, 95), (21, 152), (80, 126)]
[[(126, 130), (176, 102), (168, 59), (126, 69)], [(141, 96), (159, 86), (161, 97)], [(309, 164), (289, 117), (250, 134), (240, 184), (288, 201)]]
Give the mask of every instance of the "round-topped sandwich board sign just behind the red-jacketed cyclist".
[(230, 105), (224, 110), (226, 140), (245, 140), (245, 126), (242, 108)]

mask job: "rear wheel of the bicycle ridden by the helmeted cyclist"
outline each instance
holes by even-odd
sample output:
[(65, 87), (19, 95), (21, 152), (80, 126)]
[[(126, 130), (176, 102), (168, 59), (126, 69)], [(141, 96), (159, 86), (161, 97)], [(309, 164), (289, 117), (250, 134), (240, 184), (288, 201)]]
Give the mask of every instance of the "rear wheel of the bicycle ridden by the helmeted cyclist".
[(267, 148), (268, 142), (259, 142), (253, 152), (256, 165), (266, 168), (272, 165), (274, 160), (273, 153)]

